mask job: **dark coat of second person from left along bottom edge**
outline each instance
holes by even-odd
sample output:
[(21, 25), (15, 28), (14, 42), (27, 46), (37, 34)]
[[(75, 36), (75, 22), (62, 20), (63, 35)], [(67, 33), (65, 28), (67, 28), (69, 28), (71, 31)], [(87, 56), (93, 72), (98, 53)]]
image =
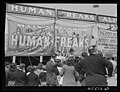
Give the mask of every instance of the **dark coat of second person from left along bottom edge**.
[(26, 74), (22, 70), (15, 71), (15, 85), (25, 86), (26, 84)]

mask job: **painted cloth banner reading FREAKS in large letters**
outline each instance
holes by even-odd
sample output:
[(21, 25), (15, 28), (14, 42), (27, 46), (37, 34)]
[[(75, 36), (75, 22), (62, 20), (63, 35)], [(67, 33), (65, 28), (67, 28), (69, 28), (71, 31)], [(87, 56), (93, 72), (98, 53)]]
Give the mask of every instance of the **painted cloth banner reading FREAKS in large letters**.
[(90, 45), (93, 27), (73, 27), (68, 25), (56, 25), (56, 50), (68, 53), (70, 48), (75, 50), (74, 54), (80, 55), (87, 51)]

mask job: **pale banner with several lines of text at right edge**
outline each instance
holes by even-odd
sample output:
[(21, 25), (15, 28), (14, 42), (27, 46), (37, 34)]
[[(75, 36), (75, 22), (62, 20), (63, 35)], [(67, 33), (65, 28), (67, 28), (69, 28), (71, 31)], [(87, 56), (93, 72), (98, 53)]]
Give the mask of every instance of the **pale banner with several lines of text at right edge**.
[(105, 53), (117, 55), (117, 31), (99, 28), (97, 45), (104, 55)]

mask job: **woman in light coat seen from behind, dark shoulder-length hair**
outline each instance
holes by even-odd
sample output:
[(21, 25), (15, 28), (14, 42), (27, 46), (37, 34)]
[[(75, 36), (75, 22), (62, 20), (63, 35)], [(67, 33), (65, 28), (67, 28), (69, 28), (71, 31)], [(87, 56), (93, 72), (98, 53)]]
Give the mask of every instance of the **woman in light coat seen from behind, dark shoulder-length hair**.
[(63, 65), (60, 75), (64, 76), (62, 86), (78, 86), (77, 81), (79, 78), (79, 74), (74, 69), (73, 58), (68, 58), (66, 64)]

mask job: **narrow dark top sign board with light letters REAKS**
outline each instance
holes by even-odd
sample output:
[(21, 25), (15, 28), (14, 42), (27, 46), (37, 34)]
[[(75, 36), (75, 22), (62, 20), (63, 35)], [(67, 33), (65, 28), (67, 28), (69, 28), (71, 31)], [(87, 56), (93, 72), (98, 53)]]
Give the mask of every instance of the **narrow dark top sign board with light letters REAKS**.
[(57, 15), (58, 15), (58, 18), (60, 19), (73, 19), (73, 20), (80, 20), (80, 21), (96, 22), (95, 14), (81, 13), (81, 12), (75, 12), (75, 11), (66, 11), (66, 10), (58, 9)]

